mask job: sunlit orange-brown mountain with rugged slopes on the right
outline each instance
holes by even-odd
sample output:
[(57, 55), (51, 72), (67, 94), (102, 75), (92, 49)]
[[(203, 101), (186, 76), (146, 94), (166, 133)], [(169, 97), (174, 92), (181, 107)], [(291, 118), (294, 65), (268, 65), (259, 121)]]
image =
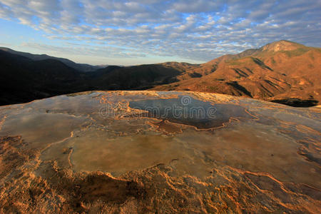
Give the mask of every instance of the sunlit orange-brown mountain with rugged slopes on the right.
[(297, 98), (303, 103), (317, 103), (321, 100), (321, 49), (276, 41), (260, 49), (215, 58), (177, 78), (180, 81), (153, 90), (225, 93), (280, 103)]

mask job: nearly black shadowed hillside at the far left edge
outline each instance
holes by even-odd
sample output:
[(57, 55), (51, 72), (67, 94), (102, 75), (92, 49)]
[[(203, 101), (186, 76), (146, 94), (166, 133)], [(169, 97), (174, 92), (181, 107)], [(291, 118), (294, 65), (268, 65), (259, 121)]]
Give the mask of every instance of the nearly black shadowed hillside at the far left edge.
[(83, 73), (55, 59), (33, 61), (0, 51), (0, 103), (21, 103), (83, 90)]

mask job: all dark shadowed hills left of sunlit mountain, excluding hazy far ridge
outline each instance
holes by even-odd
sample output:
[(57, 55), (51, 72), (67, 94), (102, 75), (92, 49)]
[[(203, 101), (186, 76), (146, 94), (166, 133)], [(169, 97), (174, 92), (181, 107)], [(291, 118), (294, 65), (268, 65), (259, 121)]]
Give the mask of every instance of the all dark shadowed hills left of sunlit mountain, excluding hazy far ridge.
[(31, 60), (0, 50), (0, 105), (91, 90), (143, 90), (177, 81), (180, 71), (161, 64), (107, 66), (80, 72), (54, 58)]

